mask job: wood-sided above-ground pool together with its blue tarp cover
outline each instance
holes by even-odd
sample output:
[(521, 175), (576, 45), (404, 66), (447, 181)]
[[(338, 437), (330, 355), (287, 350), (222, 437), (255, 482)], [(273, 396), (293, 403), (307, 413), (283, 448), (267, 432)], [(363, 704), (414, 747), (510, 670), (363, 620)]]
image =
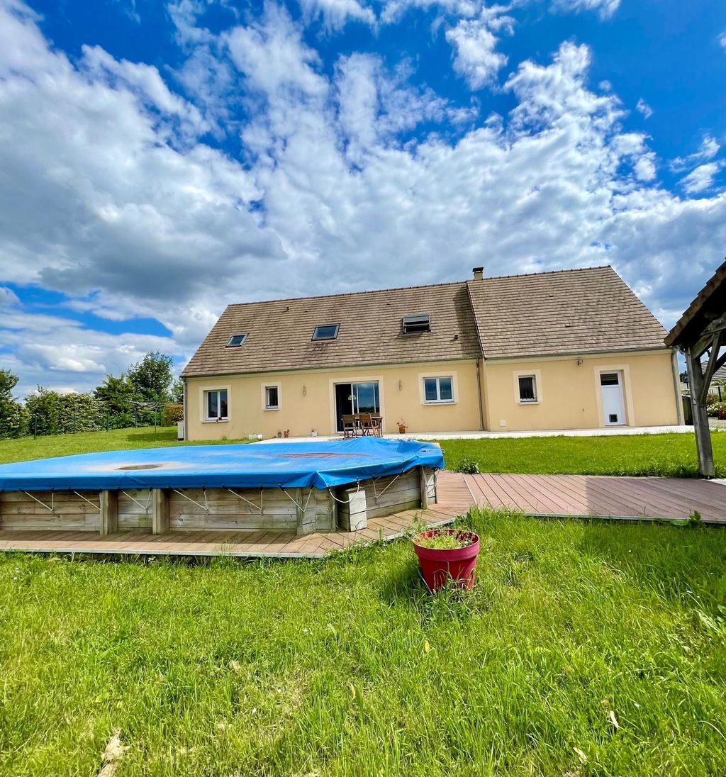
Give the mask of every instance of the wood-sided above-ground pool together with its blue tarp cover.
[(354, 531), (436, 501), (441, 448), (355, 440), (187, 445), (0, 465), (0, 528)]

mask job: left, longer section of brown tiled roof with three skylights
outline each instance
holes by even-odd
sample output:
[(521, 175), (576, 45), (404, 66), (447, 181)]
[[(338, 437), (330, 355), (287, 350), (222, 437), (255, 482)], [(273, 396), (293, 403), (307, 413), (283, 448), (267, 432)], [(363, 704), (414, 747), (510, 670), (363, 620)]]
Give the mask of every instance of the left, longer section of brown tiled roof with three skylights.
[[(431, 332), (404, 335), (404, 315), (428, 313)], [(316, 325), (337, 340), (312, 342)], [(233, 334), (246, 334), (227, 348)], [(182, 375), (227, 375), (480, 356), (466, 283), (229, 305)]]

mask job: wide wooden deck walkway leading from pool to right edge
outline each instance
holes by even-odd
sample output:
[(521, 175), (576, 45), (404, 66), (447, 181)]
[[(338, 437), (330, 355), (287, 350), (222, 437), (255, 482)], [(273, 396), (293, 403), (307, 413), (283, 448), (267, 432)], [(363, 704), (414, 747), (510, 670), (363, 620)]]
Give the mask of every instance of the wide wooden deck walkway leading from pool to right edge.
[(592, 475), (466, 475), (476, 503), (528, 515), (599, 516), (625, 520), (684, 519), (726, 524), (726, 486), (696, 478)]

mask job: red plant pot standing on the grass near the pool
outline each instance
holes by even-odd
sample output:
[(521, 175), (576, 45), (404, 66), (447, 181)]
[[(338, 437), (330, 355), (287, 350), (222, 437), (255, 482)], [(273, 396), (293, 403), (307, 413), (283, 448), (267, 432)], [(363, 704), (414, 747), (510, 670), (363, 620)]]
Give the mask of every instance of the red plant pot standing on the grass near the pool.
[(479, 537), (461, 529), (429, 529), (414, 536), (421, 575), (431, 593), (447, 580), (459, 588), (473, 587)]

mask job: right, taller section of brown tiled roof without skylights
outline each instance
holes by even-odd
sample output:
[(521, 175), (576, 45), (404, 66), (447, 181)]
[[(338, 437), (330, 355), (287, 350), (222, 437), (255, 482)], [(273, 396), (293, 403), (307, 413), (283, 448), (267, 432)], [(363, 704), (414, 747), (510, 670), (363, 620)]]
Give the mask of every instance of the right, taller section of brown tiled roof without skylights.
[(612, 267), (469, 281), (484, 356), (664, 348), (665, 329)]

